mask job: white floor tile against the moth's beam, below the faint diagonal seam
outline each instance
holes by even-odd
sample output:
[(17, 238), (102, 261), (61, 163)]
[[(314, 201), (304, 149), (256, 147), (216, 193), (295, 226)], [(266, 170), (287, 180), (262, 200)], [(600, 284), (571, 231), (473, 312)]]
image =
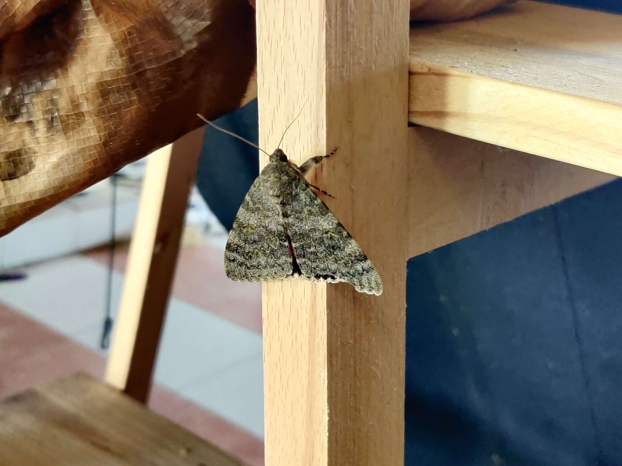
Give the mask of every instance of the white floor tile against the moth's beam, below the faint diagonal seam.
[(261, 353), (223, 372), (199, 380), (180, 390), (179, 394), (256, 436), (264, 436)]

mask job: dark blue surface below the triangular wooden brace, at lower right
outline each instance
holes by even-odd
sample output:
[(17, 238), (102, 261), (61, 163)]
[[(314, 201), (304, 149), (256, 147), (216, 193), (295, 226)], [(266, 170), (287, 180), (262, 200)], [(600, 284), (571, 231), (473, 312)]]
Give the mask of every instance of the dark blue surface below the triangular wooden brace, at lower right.
[(622, 464), (621, 232), (622, 180), (409, 260), (407, 465)]

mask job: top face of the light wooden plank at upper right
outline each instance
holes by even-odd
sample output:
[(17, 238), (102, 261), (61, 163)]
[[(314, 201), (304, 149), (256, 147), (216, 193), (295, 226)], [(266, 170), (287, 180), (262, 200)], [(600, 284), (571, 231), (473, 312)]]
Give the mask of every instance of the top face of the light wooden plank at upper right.
[(411, 63), (622, 104), (622, 16), (520, 0), (468, 21), (416, 25)]

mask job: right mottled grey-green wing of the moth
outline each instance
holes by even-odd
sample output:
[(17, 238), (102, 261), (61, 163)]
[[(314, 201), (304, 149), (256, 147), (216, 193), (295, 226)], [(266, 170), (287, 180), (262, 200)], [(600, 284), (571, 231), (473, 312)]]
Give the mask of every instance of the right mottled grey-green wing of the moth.
[(300, 270), (313, 280), (345, 281), (361, 293), (380, 295), (383, 284), (361, 247), (302, 176), (292, 179), (287, 233)]

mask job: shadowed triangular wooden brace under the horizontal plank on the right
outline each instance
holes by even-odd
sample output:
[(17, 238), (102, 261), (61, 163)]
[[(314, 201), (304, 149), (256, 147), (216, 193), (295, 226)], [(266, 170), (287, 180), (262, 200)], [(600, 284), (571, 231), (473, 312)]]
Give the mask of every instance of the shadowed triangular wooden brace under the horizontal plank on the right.
[(615, 179), (424, 127), (409, 152), (408, 257)]

